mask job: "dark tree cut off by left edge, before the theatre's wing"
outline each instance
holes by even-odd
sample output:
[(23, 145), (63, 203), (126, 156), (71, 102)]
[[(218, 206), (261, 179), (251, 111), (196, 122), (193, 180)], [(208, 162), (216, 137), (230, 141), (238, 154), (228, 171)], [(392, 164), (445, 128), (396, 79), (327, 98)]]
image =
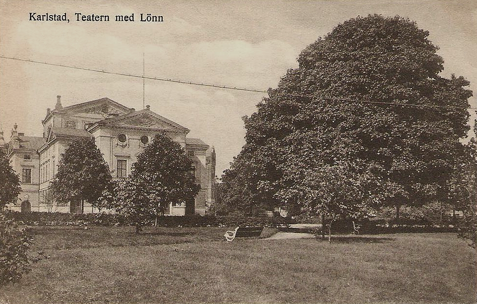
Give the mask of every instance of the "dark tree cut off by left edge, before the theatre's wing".
[(10, 160), (0, 149), (0, 210), (17, 202), (21, 192), (20, 178), (10, 165)]

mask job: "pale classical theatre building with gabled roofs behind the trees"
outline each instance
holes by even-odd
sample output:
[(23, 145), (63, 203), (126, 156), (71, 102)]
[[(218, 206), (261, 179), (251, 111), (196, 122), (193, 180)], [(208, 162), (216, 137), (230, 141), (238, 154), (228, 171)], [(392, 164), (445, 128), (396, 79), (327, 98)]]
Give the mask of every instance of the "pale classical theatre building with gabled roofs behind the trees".
[(54, 202), (51, 198), (50, 183), (57, 172), (61, 154), (75, 139), (94, 138), (113, 178), (124, 178), (131, 173), (131, 165), (137, 156), (159, 132), (165, 132), (185, 149), (193, 160), (195, 180), (200, 185), (194, 204), (183, 206), (172, 202), (166, 214), (204, 215), (214, 202), (214, 148), (198, 138), (187, 138), (189, 129), (152, 112), (149, 106), (136, 111), (109, 98), (101, 98), (63, 108), (61, 96), (57, 96), (54, 109), (47, 109), (42, 125), (43, 137), (18, 133), (17, 125), (7, 143), (0, 133), (0, 146), (5, 149), (21, 181), (18, 203), (10, 209), (98, 212), (90, 204), (82, 205), (80, 201)]

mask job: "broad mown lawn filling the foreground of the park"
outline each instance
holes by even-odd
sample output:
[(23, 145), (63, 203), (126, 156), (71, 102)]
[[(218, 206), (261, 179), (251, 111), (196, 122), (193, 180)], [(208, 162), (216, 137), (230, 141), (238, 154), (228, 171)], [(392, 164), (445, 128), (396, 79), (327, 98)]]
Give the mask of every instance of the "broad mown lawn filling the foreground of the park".
[(455, 234), (224, 241), (227, 228), (35, 227), (35, 263), (0, 303), (476, 303)]

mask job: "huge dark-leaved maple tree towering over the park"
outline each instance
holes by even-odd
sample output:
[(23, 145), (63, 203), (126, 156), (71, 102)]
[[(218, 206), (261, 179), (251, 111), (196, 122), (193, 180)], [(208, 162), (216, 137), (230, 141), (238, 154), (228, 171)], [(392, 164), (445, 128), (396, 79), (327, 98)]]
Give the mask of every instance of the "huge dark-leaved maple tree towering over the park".
[[(339, 24), (305, 48), (299, 67), (244, 119), (246, 144), (222, 178), (232, 189), (229, 204), (251, 199), (316, 214), (335, 198), (348, 207), (373, 202), (399, 210), (447, 196), (472, 92), (462, 77), (439, 75), (443, 60), (428, 34), (408, 19), (372, 15)], [(344, 198), (330, 187), (340, 184), (337, 171), (355, 182), (369, 176), (375, 187), (352, 195), (352, 183), (339, 186), (350, 192)], [(340, 210), (349, 214), (346, 206)]]

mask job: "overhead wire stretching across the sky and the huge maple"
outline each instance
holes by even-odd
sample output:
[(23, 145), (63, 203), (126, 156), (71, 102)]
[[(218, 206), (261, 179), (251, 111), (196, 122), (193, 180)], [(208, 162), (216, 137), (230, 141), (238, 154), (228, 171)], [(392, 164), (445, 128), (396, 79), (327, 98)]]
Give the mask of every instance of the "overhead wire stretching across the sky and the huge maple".
[[(110, 74), (110, 75), (134, 77), (134, 78), (140, 78), (142, 80), (144, 80), (144, 79), (158, 80), (158, 81), (175, 82), (175, 83), (197, 85), (197, 86), (206, 86), (206, 87), (228, 89), (228, 90), (237, 90), (237, 91), (246, 91), (246, 92), (255, 92), (255, 93), (268, 93), (268, 91), (264, 91), (264, 90), (240, 88), (240, 87), (235, 87), (235, 86), (230, 86), (230, 85), (219, 85), (219, 84), (203, 83), (203, 82), (195, 82), (195, 81), (187, 81), (187, 80), (177, 80), (177, 79), (170, 79), (170, 78), (163, 78), (163, 77), (150, 77), (150, 76), (145, 76), (145, 75), (135, 75), (135, 74), (128, 74), (128, 73), (111, 72), (111, 71), (106, 71), (106, 70), (102, 70), (102, 69), (87, 68), (87, 67), (67, 65), (67, 64), (54, 64), (54, 63), (41, 62), (41, 61), (30, 60), (30, 59), (7, 57), (7, 56), (3, 56), (3, 55), (0, 55), (0, 58), (10, 59), (10, 60), (17, 60), (17, 61), (21, 61), (21, 62), (35, 63), (35, 64), (46, 64), (46, 65), (52, 65), (52, 66), (59, 66), (59, 67), (65, 67), (65, 68), (71, 68), (71, 69), (77, 69), (77, 70), (83, 70), (83, 71), (90, 71), (90, 72), (99, 72), (99, 73)], [(336, 101), (344, 101), (344, 102), (369, 103), (369, 104), (379, 104), (379, 105), (395, 105), (395, 106), (437, 108), (437, 109), (449, 109), (449, 110), (477, 110), (477, 108), (472, 108), (472, 107), (464, 108), (464, 107), (453, 107), (453, 106), (397, 103), (397, 102), (385, 102), (385, 101), (373, 101), (373, 100), (359, 100), (359, 99), (342, 98), (342, 97), (329, 97), (329, 96), (320, 96), (320, 95), (293, 94), (293, 93), (281, 93), (281, 92), (274, 92), (273, 94), (282, 95), (282, 96), (310, 97), (310, 98), (320, 98), (320, 99), (336, 100)]]

